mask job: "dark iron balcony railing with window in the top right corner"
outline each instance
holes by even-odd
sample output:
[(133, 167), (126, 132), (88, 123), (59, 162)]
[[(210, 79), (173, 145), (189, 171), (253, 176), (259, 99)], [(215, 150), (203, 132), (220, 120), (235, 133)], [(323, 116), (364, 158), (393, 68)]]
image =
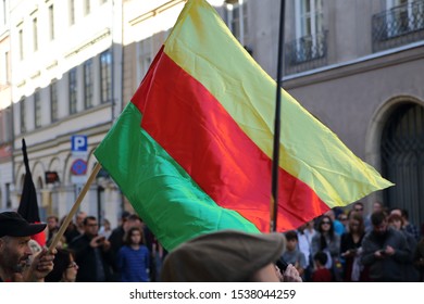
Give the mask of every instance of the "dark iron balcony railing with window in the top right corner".
[(373, 51), (424, 39), (424, 0), (395, 7), (372, 17)]

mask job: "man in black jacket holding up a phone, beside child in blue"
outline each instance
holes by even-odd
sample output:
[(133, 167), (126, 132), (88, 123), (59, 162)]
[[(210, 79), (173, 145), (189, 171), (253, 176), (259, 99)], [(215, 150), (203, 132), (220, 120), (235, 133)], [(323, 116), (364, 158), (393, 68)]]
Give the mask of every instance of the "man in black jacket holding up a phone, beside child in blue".
[(111, 280), (111, 244), (100, 236), (99, 224), (95, 216), (83, 221), (84, 233), (70, 243), (75, 252), (75, 262), (79, 269), (77, 282), (107, 282)]

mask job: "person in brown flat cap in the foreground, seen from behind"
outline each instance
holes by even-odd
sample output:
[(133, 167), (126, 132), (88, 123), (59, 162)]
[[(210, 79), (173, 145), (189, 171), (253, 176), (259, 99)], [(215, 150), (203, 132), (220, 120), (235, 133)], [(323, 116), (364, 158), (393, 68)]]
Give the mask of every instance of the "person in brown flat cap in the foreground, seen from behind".
[(174, 249), (161, 271), (167, 282), (301, 282), (288, 265), (282, 275), (276, 262), (285, 249), (283, 233), (221, 230), (197, 237)]

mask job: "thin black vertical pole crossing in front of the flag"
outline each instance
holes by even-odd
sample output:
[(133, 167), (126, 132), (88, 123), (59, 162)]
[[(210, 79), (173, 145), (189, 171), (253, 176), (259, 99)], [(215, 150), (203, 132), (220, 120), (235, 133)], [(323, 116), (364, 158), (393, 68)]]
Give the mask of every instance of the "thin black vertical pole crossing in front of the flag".
[(271, 220), (270, 231), (277, 229), (278, 212), (278, 160), (279, 160), (279, 129), (280, 129), (280, 109), (282, 109), (282, 86), (283, 86), (283, 53), (284, 53), (284, 20), (286, 1), (282, 0), (279, 12), (279, 33), (278, 33), (278, 54), (277, 54), (277, 88), (275, 101), (275, 124), (274, 124), (274, 148), (272, 165), (272, 195), (271, 195)]

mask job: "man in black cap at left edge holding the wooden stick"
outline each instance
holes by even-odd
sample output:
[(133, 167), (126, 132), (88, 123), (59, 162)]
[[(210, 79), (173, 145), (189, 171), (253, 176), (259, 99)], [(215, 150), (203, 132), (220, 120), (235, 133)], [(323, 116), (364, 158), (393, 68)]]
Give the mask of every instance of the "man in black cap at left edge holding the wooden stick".
[(55, 250), (42, 249), (28, 264), (30, 236), (45, 230), (46, 224), (29, 224), (18, 213), (0, 213), (0, 282), (43, 281), (53, 269)]

